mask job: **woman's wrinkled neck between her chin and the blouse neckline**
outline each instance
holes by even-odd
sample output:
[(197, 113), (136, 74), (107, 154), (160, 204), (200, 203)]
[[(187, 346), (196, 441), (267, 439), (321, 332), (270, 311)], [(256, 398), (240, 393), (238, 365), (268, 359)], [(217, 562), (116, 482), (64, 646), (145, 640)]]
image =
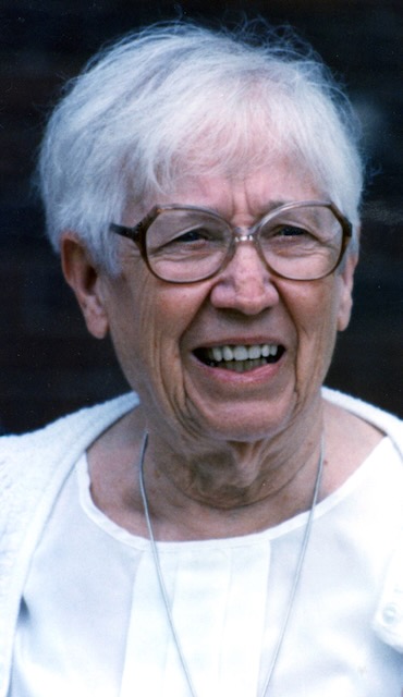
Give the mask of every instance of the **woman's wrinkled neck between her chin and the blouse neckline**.
[(200, 537), (232, 527), (247, 534), (290, 518), (310, 506), (322, 430), (318, 413), (308, 430), (289, 428), (254, 442), (206, 440), (180, 449), (150, 432), (143, 457), (150, 510)]

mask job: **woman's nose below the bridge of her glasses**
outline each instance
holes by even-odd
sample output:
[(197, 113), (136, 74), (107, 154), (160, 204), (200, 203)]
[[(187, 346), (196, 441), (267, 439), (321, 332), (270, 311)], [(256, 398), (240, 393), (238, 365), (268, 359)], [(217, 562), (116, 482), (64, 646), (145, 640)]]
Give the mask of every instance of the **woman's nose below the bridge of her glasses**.
[(215, 281), (210, 302), (221, 309), (258, 315), (279, 302), (270, 270), (251, 237), (242, 237), (237, 242), (232, 259)]

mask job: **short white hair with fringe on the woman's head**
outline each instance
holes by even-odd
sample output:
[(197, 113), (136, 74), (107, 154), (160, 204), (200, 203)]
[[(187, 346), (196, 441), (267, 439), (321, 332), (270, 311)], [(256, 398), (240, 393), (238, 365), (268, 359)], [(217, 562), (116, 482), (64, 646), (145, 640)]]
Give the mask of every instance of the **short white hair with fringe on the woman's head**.
[(343, 93), (295, 38), (266, 25), (258, 35), (150, 26), (90, 61), (49, 120), (39, 161), (49, 239), (58, 249), (74, 230), (115, 272), (109, 224), (127, 204), (144, 209), (188, 178), (245, 176), (279, 152), (357, 225), (356, 131)]

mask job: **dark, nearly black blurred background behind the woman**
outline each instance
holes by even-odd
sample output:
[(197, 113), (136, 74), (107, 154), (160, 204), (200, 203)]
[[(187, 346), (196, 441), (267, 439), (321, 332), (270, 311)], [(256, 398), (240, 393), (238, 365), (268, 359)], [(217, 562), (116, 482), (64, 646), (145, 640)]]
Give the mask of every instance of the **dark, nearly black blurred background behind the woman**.
[(402, 37), (391, 1), (1, 0), (0, 429), (23, 431), (126, 389), (111, 347), (89, 338), (44, 237), (32, 187), (46, 114), (102, 42), (157, 20), (289, 23), (342, 77), (374, 173), (354, 317), (328, 384), (403, 415)]

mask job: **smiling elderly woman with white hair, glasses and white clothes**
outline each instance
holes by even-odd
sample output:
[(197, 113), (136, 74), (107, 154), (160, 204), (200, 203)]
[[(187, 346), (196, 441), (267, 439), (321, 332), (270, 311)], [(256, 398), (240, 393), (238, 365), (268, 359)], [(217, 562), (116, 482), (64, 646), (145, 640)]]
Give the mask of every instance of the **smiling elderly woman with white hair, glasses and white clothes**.
[(56, 109), (49, 235), (133, 392), (3, 439), (1, 697), (401, 696), (402, 426), (322, 389), (352, 123), (310, 53), (191, 24)]

